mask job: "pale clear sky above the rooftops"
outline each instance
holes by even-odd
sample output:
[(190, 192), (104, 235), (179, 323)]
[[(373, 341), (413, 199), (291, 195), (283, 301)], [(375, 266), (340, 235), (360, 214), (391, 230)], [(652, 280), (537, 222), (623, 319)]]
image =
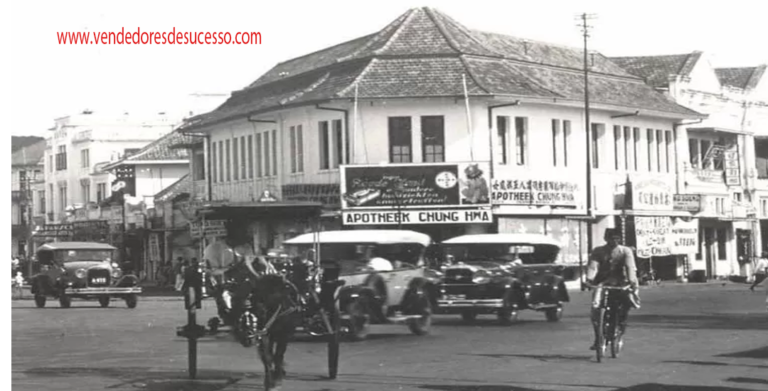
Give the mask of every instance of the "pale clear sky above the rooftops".
[[(595, 15), (607, 56), (708, 52), (716, 67), (768, 63), (766, 0), (24, 1), (11, 3), (11, 134), (45, 136), (55, 118), (207, 111), (279, 62), (371, 34), (413, 7), (478, 30), (581, 47)], [(259, 32), (261, 45), (62, 45), (57, 32)]]

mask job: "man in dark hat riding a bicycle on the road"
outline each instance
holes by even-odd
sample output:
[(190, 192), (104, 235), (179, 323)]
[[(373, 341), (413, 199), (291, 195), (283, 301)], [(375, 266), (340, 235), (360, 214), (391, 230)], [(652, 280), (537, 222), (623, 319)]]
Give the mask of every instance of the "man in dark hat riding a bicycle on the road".
[(627, 327), (627, 317), (631, 308), (640, 308), (638, 296), (637, 267), (632, 249), (620, 245), (621, 232), (616, 228), (605, 230), (606, 244), (595, 248), (589, 257), (587, 269), (587, 285), (595, 288), (592, 295), (592, 326), (595, 329), (595, 342), (591, 350), (598, 349), (597, 334), (600, 325), (600, 286), (623, 287), (629, 285), (632, 289), (625, 295), (625, 305), (619, 313), (619, 329), (623, 334)]

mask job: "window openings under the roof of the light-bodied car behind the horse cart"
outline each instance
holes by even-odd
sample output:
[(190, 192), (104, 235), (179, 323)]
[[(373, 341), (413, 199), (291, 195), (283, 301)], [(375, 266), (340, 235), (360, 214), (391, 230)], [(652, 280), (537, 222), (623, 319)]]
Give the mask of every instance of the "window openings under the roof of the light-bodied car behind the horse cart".
[[(304, 259), (312, 258), (314, 245), (288, 245), (286, 251), (291, 256)], [(416, 243), (400, 244), (359, 244), (333, 243), (320, 246), (322, 263), (336, 263), (341, 266), (341, 273), (351, 273), (365, 265), (373, 257), (381, 257), (390, 262), (418, 265), (424, 253), (424, 246)]]

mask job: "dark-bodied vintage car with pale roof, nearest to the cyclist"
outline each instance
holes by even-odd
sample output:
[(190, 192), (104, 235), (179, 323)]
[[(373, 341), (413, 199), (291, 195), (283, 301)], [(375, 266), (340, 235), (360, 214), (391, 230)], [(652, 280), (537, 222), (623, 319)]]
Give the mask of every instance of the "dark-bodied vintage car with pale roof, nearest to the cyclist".
[(461, 314), (465, 321), (495, 314), (503, 324), (520, 310), (544, 312), (550, 322), (570, 301), (560, 243), (537, 234), (465, 235), (441, 243), (444, 273), (437, 312)]

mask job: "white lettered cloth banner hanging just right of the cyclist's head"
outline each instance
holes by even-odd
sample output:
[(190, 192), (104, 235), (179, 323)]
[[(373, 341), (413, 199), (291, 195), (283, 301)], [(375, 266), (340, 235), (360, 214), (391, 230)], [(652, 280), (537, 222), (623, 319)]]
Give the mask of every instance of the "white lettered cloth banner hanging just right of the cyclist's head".
[(638, 258), (693, 254), (699, 247), (698, 220), (635, 217)]

